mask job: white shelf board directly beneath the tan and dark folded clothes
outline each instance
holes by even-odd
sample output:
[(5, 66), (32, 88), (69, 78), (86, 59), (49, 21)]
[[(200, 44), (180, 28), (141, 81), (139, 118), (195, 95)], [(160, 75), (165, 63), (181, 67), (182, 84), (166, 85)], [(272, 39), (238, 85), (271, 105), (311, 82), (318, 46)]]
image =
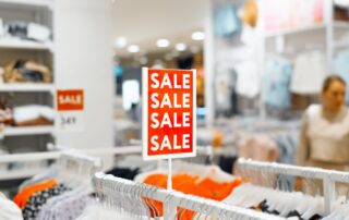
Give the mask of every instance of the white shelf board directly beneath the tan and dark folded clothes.
[(55, 86), (44, 83), (9, 83), (0, 84), (0, 91), (55, 91)]

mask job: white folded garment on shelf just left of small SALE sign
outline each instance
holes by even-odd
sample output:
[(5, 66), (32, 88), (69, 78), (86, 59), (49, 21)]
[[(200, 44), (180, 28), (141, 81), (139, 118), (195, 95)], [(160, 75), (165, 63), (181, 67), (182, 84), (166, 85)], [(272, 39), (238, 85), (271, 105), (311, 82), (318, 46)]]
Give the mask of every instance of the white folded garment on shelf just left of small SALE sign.
[(55, 110), (39, 105), (22, 106), (13, 109), (13, 119), (16, 123), (35, 120), (40, 117), (53, 121)]

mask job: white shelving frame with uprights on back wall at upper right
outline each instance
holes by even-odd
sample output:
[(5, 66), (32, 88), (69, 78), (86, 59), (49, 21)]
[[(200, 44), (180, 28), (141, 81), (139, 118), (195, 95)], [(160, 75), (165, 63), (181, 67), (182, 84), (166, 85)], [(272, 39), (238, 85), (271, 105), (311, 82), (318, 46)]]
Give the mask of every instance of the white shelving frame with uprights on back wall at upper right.
[[(278, 1), (278, 0), (275, 0)], [(306, 0), (303, 0), (306, 1)], [(233, 1), (234, 5), (243, 5), (245, 0), (237, 0)], [(258, 16), (263, 17), (265, 14), (265, 4), (270, 3), (270, 1), (265, 0), (257, 0), (260, 10)], [(208, 125), (214, 123), (216, 107), (215, 107), (215, 97), (212, 93), (215, 75), (215, 66), (219, 62), (229, 62), (231, 58), (237, 56), (239, 57), (239, 47), (241, 47), (240, 36), (237, 36), (234, 40), (231, 38), (222, 41), (219, 37), (214, 35), (214, 13), (216, 9), (219, 7), (224, 7), (227, 3), (231, 4), (232, 2), (227, 2), (224, 0), (210, 0), (209, 1), (209, 11), (210, 11), (210, 20), (205, 26), (205, 78), (207, 80), (207, 84), (205, 84), (205, 91), (206, 91), (206, 99), (205, 103), (207, 105), (207, 115), (206, 122)], [(296, 48), (296, 50), (301, 49), (304, 45), (299, 44), (301, 38), (304, 36), (309, 39), (309, 48), (315, 46), (322, 46), (321, 49), (325, 49), (326, 51), (326, 60), (327, 60), (327, 72), (332, 72), (332, 63), (335, 57), (337, 49), (349, 48), (349, 22), (336, 21), (334, 19), (334, 1), (333, 0), (323, 0), (323, 21), (321, 23), (314, 23), (298, 27), (290, 27), (285, 29), (278, 29), (273, 32), (266, 32), (264, 29), (263, 21), (258, 22), (258, 26), (256, 28), (255, 37), (256, 37), (256, 45), (253, 46), (255, 49), (254, 53), (257, 57), (257, 70), (260, 71), (260, 75), (264, 70), (264, 62), (266, 59), (267, 53), (282, 53), (288, 52), (286, 49)], [(346, 38), (339, 40), (338, 38), (344, 36), (344, 33), (348, 32), (348, 36)], [(302, 37), (299, 37), (302, 35)], [(313, 37), (314, 38), (311, 38)], [(239, 38), (239, 39), (238, 39)], [(321, 38), (321, 39), (320, 39)], [(218, 42), (217, 42), (218, 41)], [(234, 45), (231, 45), (234, 44)], [(294, 45), (296, 44), (296, 45)], [(298, 44), (298, 45), (297, 45)], [(270, 49), (269, 47), (273, 46)], [(249, 47), (249, 46), (245, 46)], [(218, 49), (217, 49), (218, 48)], [(309, 48), (304, 48), (308, 49)], [(250, 48), (251, 49), (251, 48)], [(222, 51), (222, 56), (220, 56), (217, 51)], [(234, 50), (237, 54), (234, 54)], [(296, 51), (294, 50), (294, 51)], [(217, 54), (216, 54), (217, 53)], [(215, 56), (213, 56), (215, 54)], [(262, 82), (263, 83), (263, 82)], [(266, 107), (262, 101), (263, 97), (260, 96), (260, 118), (265, 119), (266, 115)]]

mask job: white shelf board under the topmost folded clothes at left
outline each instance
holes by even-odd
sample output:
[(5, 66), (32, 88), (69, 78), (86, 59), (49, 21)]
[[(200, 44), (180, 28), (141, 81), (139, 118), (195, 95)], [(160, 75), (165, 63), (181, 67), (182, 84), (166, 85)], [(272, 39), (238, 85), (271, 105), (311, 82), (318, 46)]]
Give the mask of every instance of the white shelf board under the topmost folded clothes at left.
[(53, 51), (52, 44), (41, 44), (31, 40), (22, 40), (17, 38), (0, 38), (0, 48)]

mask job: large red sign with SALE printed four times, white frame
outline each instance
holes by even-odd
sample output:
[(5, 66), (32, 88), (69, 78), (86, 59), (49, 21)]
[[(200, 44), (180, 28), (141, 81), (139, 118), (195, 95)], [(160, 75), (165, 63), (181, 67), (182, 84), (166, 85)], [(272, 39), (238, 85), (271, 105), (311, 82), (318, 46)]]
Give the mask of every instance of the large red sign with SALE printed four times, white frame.
[(143, 69), (143, 158), (196, 156), (195, 70)]

